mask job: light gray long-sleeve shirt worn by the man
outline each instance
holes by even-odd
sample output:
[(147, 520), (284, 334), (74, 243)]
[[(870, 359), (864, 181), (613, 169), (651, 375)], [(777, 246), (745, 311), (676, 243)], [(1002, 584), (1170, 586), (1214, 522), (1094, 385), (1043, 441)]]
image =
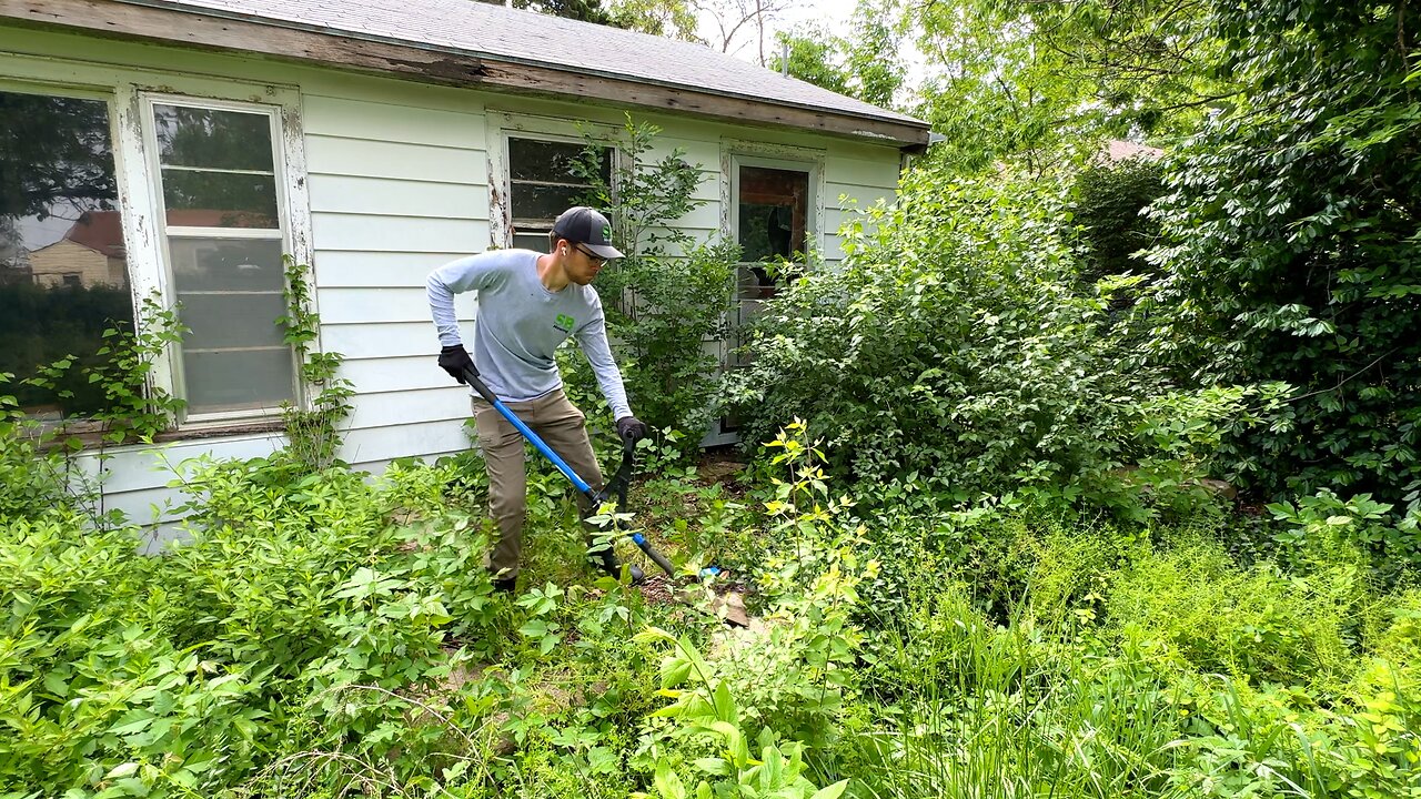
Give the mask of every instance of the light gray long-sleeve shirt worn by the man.
[(570, 283), (549, 291), (537, 276), (539, 253), (492, 250), (449, 262), (429, 274), (429, 310), (439, 344), (462, 344), (453, 296), (479, 291), (473, 323), (473, 364), (504, 402), (536, 400), (563, 385), (553, 353), (568, 336), (593, 365), (612, 418), (631, 415), (621, 372), (607, 344), (603, 301), (591, 286)]

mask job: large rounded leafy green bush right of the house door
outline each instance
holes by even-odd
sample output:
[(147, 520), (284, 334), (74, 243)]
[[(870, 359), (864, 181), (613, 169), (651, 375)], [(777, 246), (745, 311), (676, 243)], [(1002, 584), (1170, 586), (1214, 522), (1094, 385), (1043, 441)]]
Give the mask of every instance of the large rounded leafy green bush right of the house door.
[(1208, 503), (1211, 448), (1280, 390), (1169, 391), (1131, 365), (1108, 293), (1069, 287), (1063, 213), (1044, 182), (908, 178), (897, 208), (848, 226), (838, 269), (766, 303), (728, 380), (742, 435), (801, 417), (836, 471), (885, 495), (1044, 492), (1137, 516)]

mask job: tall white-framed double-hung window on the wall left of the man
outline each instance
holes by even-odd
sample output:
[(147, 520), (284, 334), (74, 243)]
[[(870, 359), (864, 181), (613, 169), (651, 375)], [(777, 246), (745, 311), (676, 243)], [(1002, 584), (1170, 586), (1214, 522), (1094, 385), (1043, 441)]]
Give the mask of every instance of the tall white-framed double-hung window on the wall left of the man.
[(277, 117), (257, 107), (151, 101), (151, 163), (169, 297), (189, 328), (176, 365), (188, 418), (253, 415), (296, 400), (286, 316)]

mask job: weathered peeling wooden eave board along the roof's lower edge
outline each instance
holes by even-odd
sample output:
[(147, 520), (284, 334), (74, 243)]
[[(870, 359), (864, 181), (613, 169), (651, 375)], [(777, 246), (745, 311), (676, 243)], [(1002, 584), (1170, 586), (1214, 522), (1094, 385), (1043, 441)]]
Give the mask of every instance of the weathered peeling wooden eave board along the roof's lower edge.
[(408, 80), (553, 98), (600, 100), (737, 124), (809, 129), (901, 148), (922, 146), (926, 125), (759, 98), (657, 85), (612, 75), (581, 74), (432, 45), (303, 28), (266, 18), (199, 13), (132, 0), (0, 0), (0, 18), (105, 37), (179, 44), (205, 50), (394, 74)]

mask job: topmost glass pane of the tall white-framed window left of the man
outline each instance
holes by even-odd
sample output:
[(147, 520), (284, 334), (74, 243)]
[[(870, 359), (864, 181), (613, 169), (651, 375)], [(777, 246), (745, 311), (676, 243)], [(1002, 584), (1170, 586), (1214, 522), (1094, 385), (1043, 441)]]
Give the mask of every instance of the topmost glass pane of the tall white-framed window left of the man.
[(266, 114), (155, 105), (163, 166), (271, 172), (271, 118)]

